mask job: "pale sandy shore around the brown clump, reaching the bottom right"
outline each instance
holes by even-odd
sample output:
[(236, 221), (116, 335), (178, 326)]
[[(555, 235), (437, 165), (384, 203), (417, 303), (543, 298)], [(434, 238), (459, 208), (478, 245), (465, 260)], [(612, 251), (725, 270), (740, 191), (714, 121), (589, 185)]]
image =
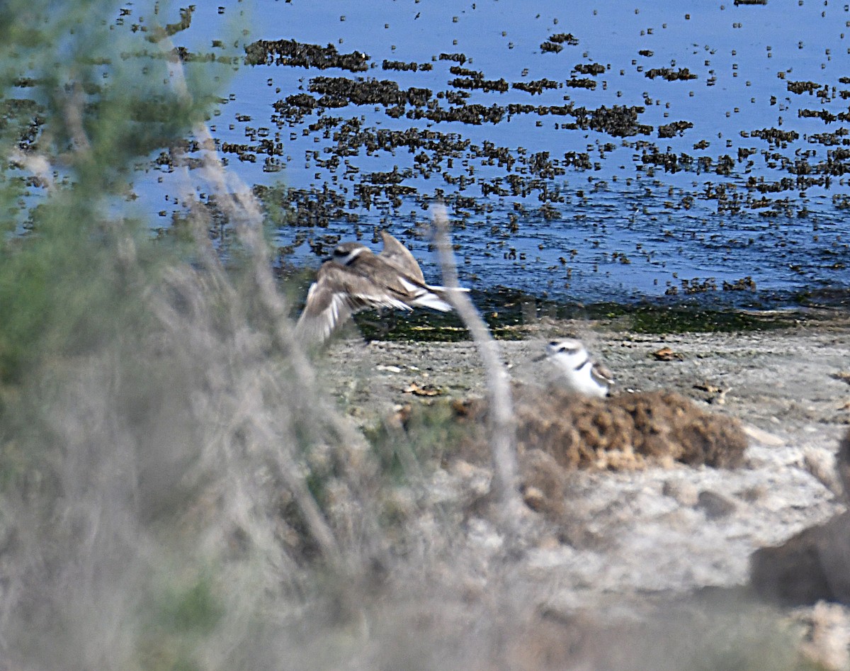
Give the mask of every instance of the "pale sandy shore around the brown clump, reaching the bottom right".
[[(850, 426), (850, 315), (832, 311), (792, 327), (719, 333), (634, 333), (621, 323), (544, 319), (517, 329), (524, 339), (498, 344), (513, 378), (540, 383), (547, 362), (531, 360), (547, 340), (581, 338), (614, 372), (619, 393), (672, 390), (703, 410), (740, 419), (749, 438), (743, 464), (566, 472), (563, 513), (523, 514), (524, 551), (512, 569), (522, 599), (543, 614), (540, 626), (551, 640), (578, 635), (583, 644), (575, 655), (601, 655), (596, 668), (609, 667), (609, 651), (592, 641), (643, 648), (640, 632), (667, 636), (670, 626), (688, 641), (706, 617), (717, 640), (697, 634), (702, 644), (768, 636), (770, 645), (782, 641), (824, 668), (845, 668), (850, 607), (765, 603), (751, 589), (750, 562), (758, 549), (847, 509), (835, 456)], [(365, 343), (351, 325), (346, 334), (354, 337), (332, 342), (317, 368), (343, 412), (364, 429), (407, 404), (484, 395), (472, 342)], [(681, 359), (660, 361), (654, 352), (664, 347)], [(463, 552), (498, 566), (499, 528), (474, 503), (491, 469), (444, 459), (425, 471), (427, 500), (464, 511), (457, 528)], [(427, 513), (405, 521), (413, 534), (421, 526), (423, 537), (431, 524)], [(497, 579), (484, 575), (484, 583)], [(697, 644), (667, 640), (660, 650), (676, 645)], [(830, 657), (836, 649), (845, 651)]]

